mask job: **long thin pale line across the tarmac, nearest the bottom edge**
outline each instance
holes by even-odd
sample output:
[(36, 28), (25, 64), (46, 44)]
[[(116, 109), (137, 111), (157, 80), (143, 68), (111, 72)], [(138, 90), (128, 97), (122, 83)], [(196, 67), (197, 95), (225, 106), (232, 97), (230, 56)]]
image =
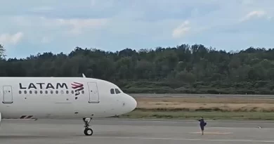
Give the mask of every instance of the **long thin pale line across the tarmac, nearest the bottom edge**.
[(145, 138), (145, 137), (119, 137), (119, 136), (90, 136), (83, 138), (116, 138), (116, 139), (139, 139), (139, 140), (196, 140), (196, 141), (226, 141), (226, 142), (258, 142), (274, 143), (274, 140), (244, 140), (244, 139), (194, 139), (194, 138)]

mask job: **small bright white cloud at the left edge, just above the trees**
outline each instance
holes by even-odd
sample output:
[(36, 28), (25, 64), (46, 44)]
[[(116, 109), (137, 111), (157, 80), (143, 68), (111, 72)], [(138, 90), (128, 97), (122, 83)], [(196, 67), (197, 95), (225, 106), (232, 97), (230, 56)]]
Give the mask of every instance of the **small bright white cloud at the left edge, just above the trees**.
[(18, 42), (23, 37), (22, 32), (17, 32), (16, 34), (0, 34), (0, 43), (1, 44), (18, 44)]

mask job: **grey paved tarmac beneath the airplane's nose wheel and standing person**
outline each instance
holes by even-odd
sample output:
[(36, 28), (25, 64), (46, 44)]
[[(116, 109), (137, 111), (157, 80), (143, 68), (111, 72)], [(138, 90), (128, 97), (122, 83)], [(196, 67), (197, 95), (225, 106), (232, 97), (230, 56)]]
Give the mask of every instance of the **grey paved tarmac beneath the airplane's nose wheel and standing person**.
[[(93, 120), (93, 136), (84, 136), (79, 120), (14, 120), (1, 123), (1, 144), (217, 144), (274, 143), (274, 123), (270, 122), (207, 122), (204, 136), (197, 122), (141, 121), (126, 119)], [(262, 129), (257, 128), (261, 126)]]

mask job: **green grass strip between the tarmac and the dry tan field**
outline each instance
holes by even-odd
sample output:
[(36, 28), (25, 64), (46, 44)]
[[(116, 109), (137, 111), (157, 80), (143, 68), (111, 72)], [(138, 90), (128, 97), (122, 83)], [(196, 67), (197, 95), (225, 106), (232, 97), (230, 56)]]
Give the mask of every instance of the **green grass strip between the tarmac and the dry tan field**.
[(130, 119), (204, 119), (212, 120), (274, 120), (274, 112), (161, 112), (148, 110), (134, 110), (119, 118)]

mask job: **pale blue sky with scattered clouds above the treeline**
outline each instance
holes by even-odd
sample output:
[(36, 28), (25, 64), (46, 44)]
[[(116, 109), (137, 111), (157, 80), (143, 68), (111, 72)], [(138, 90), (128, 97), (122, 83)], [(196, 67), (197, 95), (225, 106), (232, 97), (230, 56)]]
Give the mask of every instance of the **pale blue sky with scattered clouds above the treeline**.
[(273, 48), (273, 0), (0, 0), (7, 58), (203, 44)]

